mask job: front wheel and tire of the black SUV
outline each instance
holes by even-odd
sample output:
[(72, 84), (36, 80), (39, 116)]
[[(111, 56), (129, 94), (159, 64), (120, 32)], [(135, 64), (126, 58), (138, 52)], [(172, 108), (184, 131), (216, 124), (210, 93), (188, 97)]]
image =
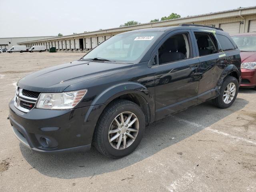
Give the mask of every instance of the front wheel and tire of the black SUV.
[[(120, 116), (121, 113), (124, 117), (124, 126), (122, 126), (122, 123), (118, 126), (115, 121), (115, 119), (117, 119), (122, 122)], [(136, 117), (137, 120), (132, 124), (132, 126), (126, 128), (125, 122), (128, 115), (131, 115), (132, 118), (127, 125), (135, 119), (134, 117)], [(120, 129), (121, 126), (122, 128)], [(120, 131), (115, 132), (117, 129)], [(133, 130), (133, 132), (126, 129)], [(110, 103), (106, 109), (104, 109), (104, 112), (102, 112), (94, 130), (93, 145), (100, 153), (107, 157), (121, 158), (132, 153), (137, 148), (142, 140), (144, 129), (145, 116), (141, 108), (134, 102), (128, 100), (116, 100)], [(114, 133), (110, 134), (109, 131), (111, 130), (114, 131)], [(137, 131), (134, 132), (134, 130)], [(132, 139), (128, 134), (132, 134), (135, 139)], [(111, 142), (111, 139), (116, 135), (119, 136)], [(118, 149), (118, 141), (120, 138), (121, 142)], [(124, 139), (126, 141), (125, 144)]]

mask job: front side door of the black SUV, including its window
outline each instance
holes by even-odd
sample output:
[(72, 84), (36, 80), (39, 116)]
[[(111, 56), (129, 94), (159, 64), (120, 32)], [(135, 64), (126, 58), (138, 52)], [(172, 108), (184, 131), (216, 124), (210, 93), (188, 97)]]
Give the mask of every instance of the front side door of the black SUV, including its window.
[(197, 103), (199, 60), (190, 30), (164, 37), (154, 52), (156, 119)]

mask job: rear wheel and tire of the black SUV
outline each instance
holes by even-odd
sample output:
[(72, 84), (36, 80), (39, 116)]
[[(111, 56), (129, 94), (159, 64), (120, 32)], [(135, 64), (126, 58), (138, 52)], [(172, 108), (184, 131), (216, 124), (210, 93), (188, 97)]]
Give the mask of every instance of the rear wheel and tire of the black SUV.
[[(236, 90), (233, 91), (233, 92), (235, 92), (234, 94), (233, 94), (233, 92), (231, 93), (231, 92), (228, 91), (228, 87), (227, 87), (228, 85), (231, 85), (231, 86), (235, 85)], [(215, 106), (217, 106), (218, 108), (222, 108), (222, 109), (230, 107), (234, 103), (234, 101), (236, 100), (236, 96), (238, 94), (238, 88), (239, 88), (238, 80), (236, 78), (232, 77), (232, 76), (227, 76), (224, 79), (223, 84), (220, 88), (220, 95), (212, 100), (213, 104)], [(226, 93), (226, 92), (228, 92), (228, 93)], [(224, 100), (226, 99), (227, 96), (225, 96), (225, 98), (224, 98), (224, 94), (227, 94), (227, 95), (230, 94), (230, 97), (228, 97), (226, 102)], [(232, 98), (232, 100), (230, 100), (230, 98)]]

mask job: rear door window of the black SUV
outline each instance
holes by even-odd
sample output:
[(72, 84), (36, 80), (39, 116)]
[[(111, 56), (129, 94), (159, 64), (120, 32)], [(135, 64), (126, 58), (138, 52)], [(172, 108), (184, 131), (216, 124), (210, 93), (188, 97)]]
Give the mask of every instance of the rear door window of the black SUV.
[(212, 33), (194, 33), (199, 56), (217, 53), (217, 42)]

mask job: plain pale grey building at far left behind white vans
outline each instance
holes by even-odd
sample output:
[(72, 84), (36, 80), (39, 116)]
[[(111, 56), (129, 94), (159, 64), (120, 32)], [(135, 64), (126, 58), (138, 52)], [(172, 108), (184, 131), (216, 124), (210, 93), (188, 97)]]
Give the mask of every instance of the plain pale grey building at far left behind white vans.
[(35, 40), (49, 39), (53, 37), (56, 37), (56, 36), (0, 38), (0, 48), (9, 49), (14, 45), (18, 45), (18, 42), (35, 41)]

